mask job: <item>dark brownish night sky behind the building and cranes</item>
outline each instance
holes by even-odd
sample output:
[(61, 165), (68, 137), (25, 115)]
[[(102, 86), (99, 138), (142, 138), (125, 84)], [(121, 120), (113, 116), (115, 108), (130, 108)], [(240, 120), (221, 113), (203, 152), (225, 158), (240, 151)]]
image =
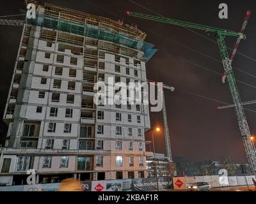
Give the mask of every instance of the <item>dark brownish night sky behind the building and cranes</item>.
[[(239, 52), (256, 59), (256, 1), (134, 1), (165, 17), (222, 27), (232, 31), (240, 31), (246, 11), (251, 10), (250, 22), (248, 22), (246, 27), (247, 38), (245, 41), (241, 41)], [(42, 3), (42, 1), (39, 2)], [(138, 24), (138, 28), (148, 34), (146, 41), (153, 43), (159, 49), (157, 54), (147, 63), (148, 78), (158, 82), (164, 82), (164, 84), (173, 85), (177, 89), (232, 103), (228, 85), (222, 84), (220, 75), (181, 61), (177, 57), (195, 62), (220, 73), (223, 71), (222, 64), (196, 54), (196, 52), (177, 45), (173, 41), (192, 47), (195, 50), (220, 60), (216, 43), (206, 40), (202, 36), (182, 27), (127, 17), (125, 16), (125, 11), (127, 10), (153, 14), (130, 1), (49, 0), (46, 2), (115, 20), (124, 18), (125, 22), (129, 24), (132, 24), (132, 22)], [(228, 4), (228, 19), (221, 20), (218, 18), (218, 5), (220, 3)], [(25, 9), (21, 0), (2, 1), (1, 4), (1, 15), (19, 14), (20, 8)], [(14, 17), (11, 19), (14, 19)], [(21, 31), (21, 27), (3, 25), (0, 27), (1, 117), (12, 78)], [(204, 32), (200, 33), (205, 35)], [(207, 37), (214, 39), (212, 36)], [(232, 48), (234, 47), (236, 38), (228, 37), (226, 41), (228, 47)], [(236, 55), (233, 65), (252, 75), (256, 75), (255, 61), (249, 60), (242, 55)], [(234, 73), (237, 80), (255, 85), (254, 77), (250, 77), (237, 70)], [(237, 85), (242, 101), (255, 99), (255, 88), (240, 83)], [(191, 96), (180, 91), (166, 91), (165, 97), (173, 156), (182, 156), (195, 161), (220, 159), (221, 156), (226, 156), (237, 163), (246, 162), (234, 108), (218, 111), (216, 110), (216, 106), (219, 106), (220, 103)], [(251, 108), (252, 110), (254, 108), (256, 110), (253, 105), (246, 106), (246, 108)], [(256, 133), (256, 125), (254, 124), (256, 113), (246, 111), (246, 116), (251, 132)], [(163, 126), (161, 113), (151, 115), (152, 126), (155, 126), (157, 122)], [(164, 153), (163, 133), (157, 134), (156, 138), (158, 152)]]

